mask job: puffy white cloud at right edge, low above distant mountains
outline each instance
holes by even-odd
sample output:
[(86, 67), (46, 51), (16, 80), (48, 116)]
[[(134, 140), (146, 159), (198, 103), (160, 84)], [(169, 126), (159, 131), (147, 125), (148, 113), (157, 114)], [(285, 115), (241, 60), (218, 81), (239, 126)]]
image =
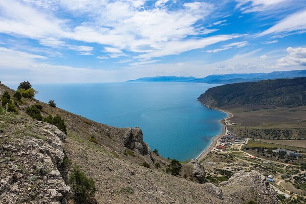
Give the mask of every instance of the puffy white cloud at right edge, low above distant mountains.
[(286, 51), (288, 55), (278, 60), (279, 66), (306, 66), (306, 47), (288, 47)]

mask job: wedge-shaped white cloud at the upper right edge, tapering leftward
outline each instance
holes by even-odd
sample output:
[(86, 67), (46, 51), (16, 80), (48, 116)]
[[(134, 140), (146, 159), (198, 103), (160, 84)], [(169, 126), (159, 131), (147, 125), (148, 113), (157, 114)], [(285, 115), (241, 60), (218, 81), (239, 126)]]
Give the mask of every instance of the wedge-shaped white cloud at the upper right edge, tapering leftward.
[(289, 33), (292, 31), (301, 31), (306, 29), (306, 10), (294, 13), (279, 23), (273, 25), (269, 29), (258, 34), (258, 36), (264, 36), (268, 34)]

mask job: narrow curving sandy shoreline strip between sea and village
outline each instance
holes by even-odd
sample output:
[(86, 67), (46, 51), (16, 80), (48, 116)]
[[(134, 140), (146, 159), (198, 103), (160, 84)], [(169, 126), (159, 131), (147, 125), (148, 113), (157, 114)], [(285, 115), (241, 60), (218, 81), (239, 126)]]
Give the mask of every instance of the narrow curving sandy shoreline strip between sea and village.
[[(206, 106), (207, 108), (210, 108), (209, 106), (207, 106), (205, 104), (203, 104), (203, 105)], [(211, 144), (199, 156), (197, 156), (196, 160), (198, 160), (198, 161), (204, 159), (215, 148), (219, 138), (221, 138), (222, 136), (225, 136), (225, 134), (227, 132), (227, 127), (226, 127), (227, 119), (234, 116), (232, 113), (230, 113), (228, 111), (225, 111), (225, 110), (221, 110), (221, 109), (218, 109), (218, 108), (212, 108), (212, 109), (215, 109), (215, 110), (221, 111), (223, 113), (226, 113), (227, 116), (224, 119), (219, 120), (219, 123), (222, 125), (221, 133), (217, 136), (214, 136)], [(224, 120), (224, 121), (222, 122), (222, 120)]]

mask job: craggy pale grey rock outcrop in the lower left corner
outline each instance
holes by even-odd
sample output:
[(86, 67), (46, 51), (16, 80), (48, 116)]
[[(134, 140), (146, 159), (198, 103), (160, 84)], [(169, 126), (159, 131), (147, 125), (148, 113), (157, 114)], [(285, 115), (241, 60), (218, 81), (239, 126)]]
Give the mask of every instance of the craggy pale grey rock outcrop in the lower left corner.
[(64, 204), (70, 187), (57, 167), (64, 159), (66, 135), (41, 122), (30, 130), (18, 137), (0, 135), (0, 203)]

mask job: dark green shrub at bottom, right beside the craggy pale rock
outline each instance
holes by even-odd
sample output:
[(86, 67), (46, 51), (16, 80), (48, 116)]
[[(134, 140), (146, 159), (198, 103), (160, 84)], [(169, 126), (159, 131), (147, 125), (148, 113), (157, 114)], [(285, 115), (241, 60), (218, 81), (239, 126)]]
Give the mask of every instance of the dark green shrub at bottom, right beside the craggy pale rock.
[(74, 198), (79, 203), (86, 203), (87, 199), (94, 197), (96, 192), (95, 181), (88, 178), (79, 166), (74, 166), (69, 177), (69, 184)]

